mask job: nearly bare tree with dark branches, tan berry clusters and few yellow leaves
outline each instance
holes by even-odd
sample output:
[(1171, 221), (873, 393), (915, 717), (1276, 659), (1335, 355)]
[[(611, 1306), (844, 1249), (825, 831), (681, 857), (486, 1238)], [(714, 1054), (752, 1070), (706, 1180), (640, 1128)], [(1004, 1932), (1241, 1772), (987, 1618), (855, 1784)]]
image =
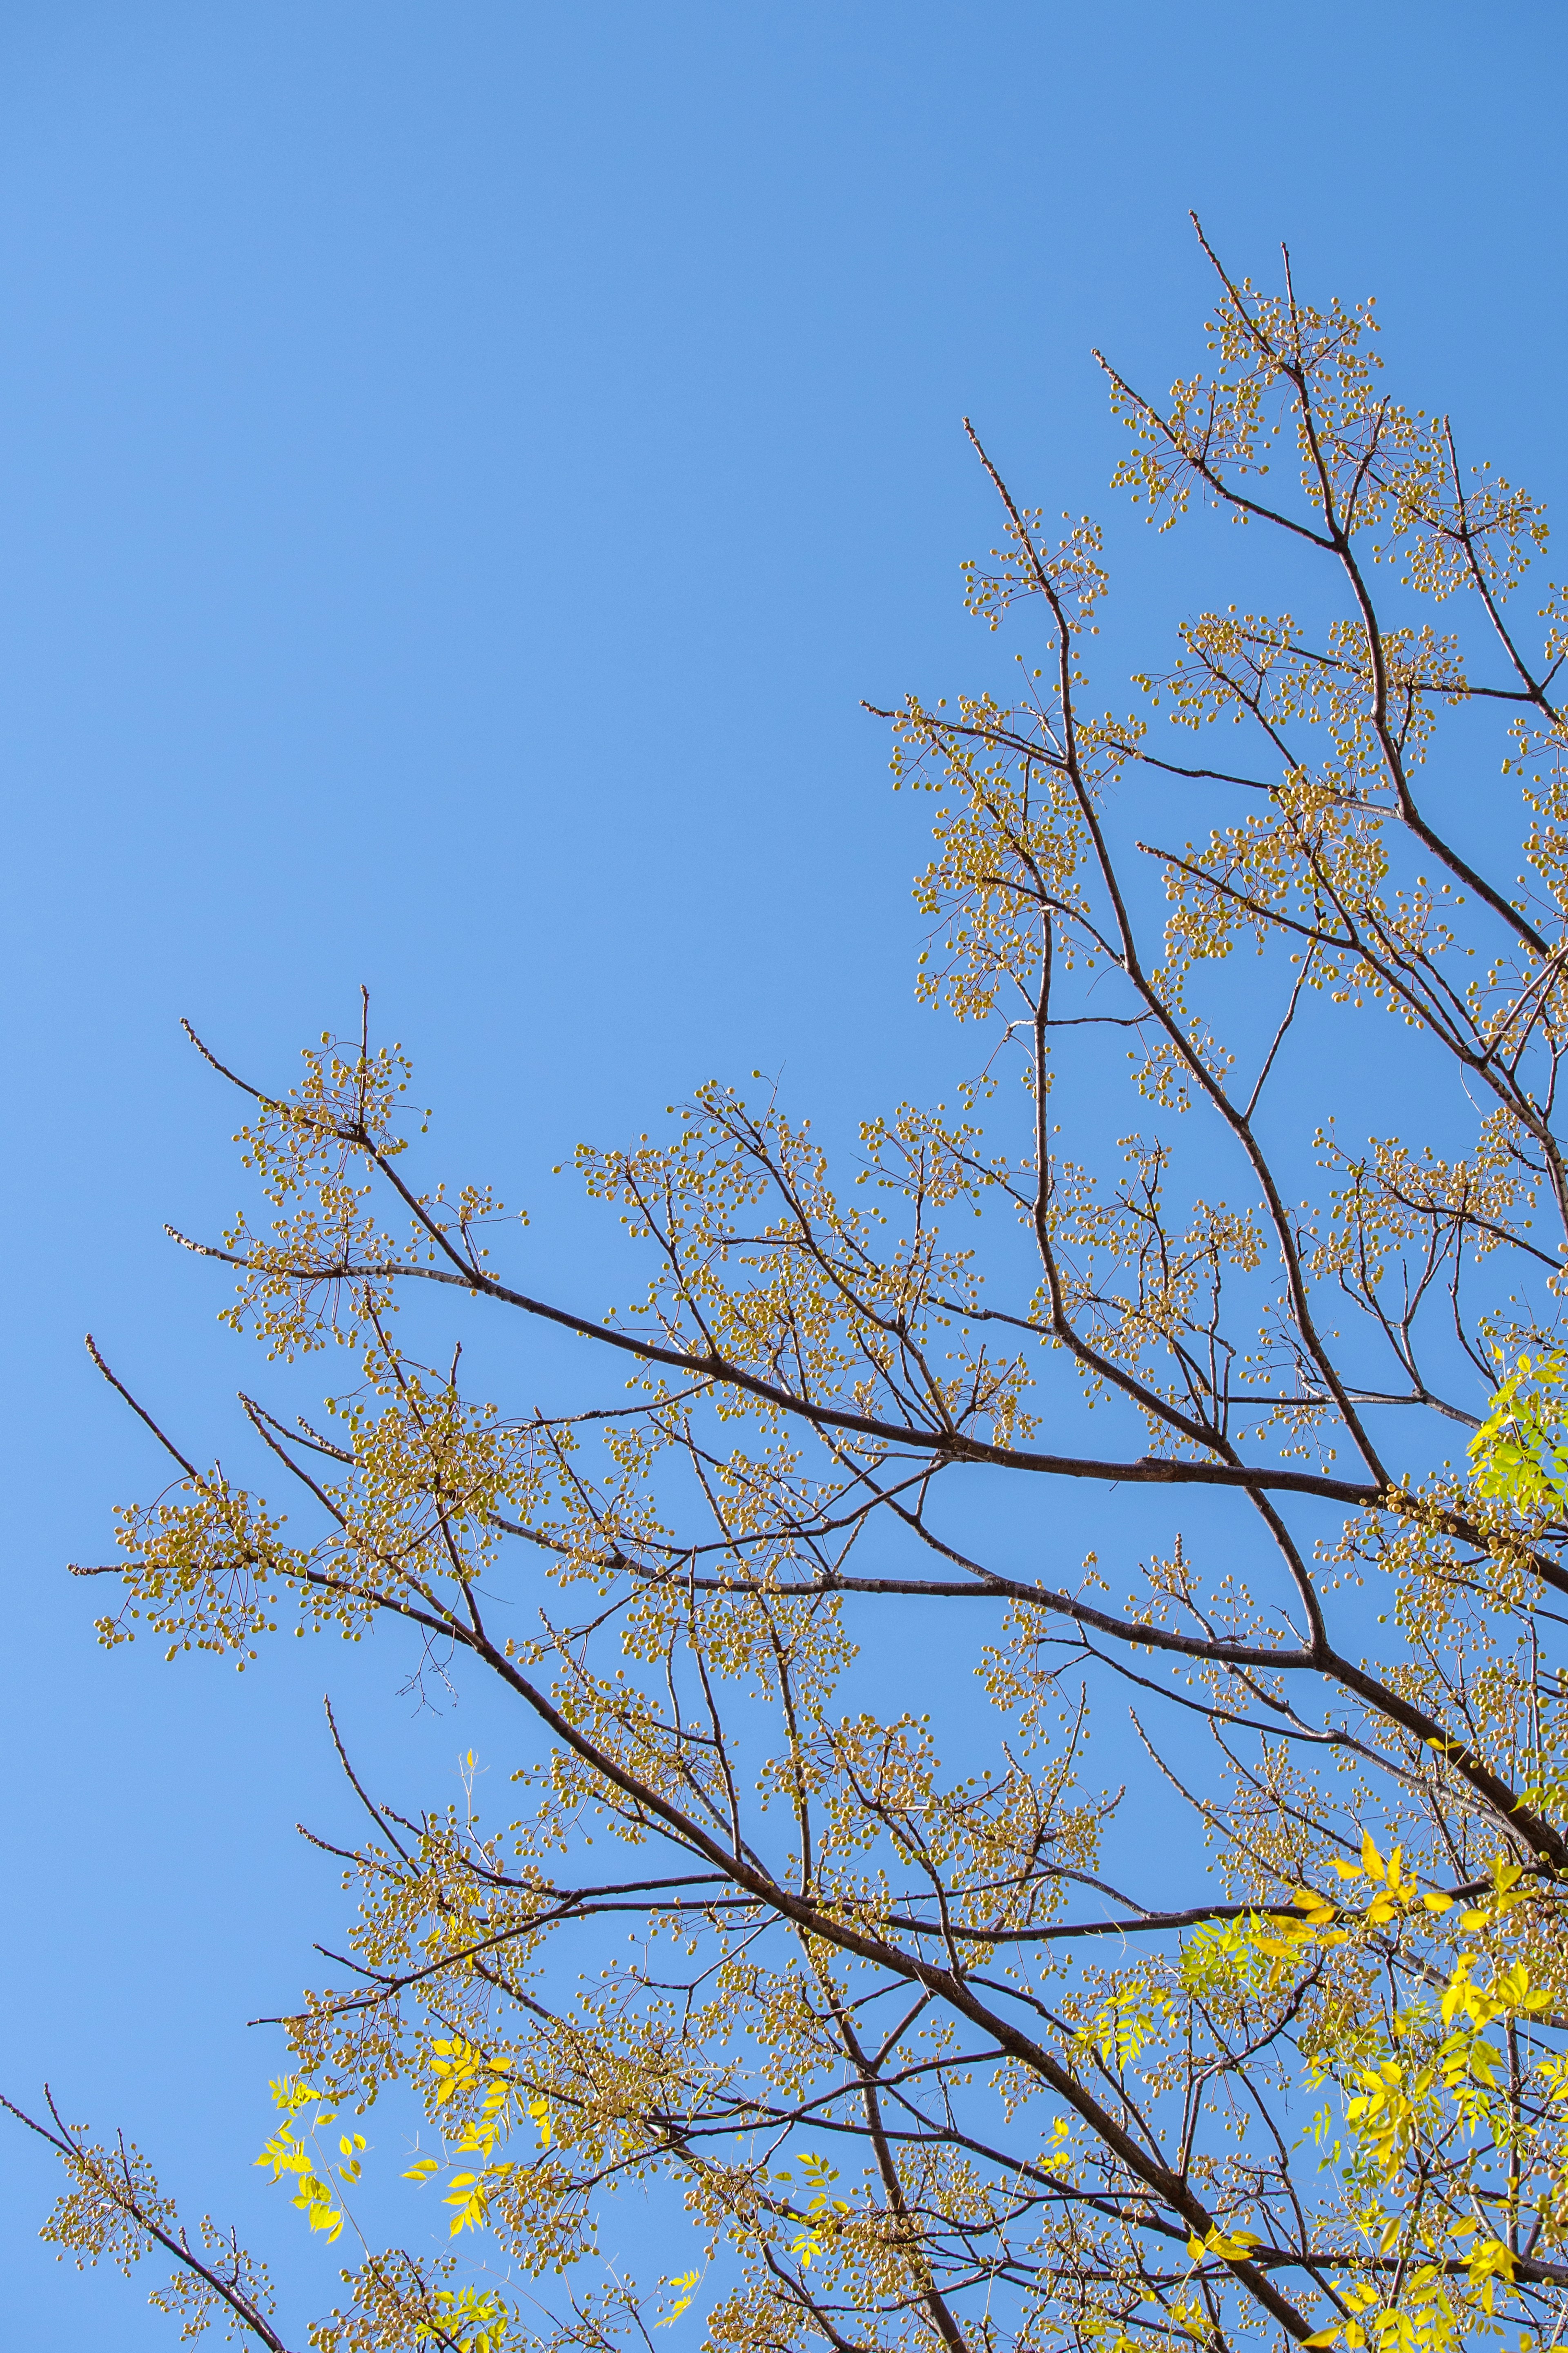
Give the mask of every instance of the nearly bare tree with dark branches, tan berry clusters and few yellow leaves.
[[(1568, 605), (1512, 619), (1542, 513), (1380, 391), (1368, 306), (1213, 266), (1204, 372), (1159, 405), (1107, 367), (1117, 482), (1161, 529), (1197, 499), (1274, 534), (1314, 619), (1201, 612), (1100, 713), (1100, 534), (971, 435), (1004, 534), (969, 605), (1034, 652), (1013, 704), (884, 713), (931, 795), (919, 991), (980, 1040), (957, 1115), (870, 1118), (849, 1184), (717, 1085), (583, 1151), (649, 1268), (602, 1320), (491, 1261), (484, 1186), (414, 1174), (369, 1019), (289, 1092), (202, 1045), (270, 1214), (188, 1247), (235, 1329), (355, 1384), (244, 1407), (313, 1532), (136, 1405), (174, 1487), (125, 1513), (101, 1635), (244, 1666), (284, 1617), (393, 1621), (520, 1727), (515, 1824), (393, 1812), (343, 1758), (353, 1967), (287, 2021), (263, 2162), (350, 2247), (395, 2160), (346, 2111), (416, 2099), (447, 2252), (428, 2207), (411, 2249), (357, 2242), (317, 2348), (1563, 2337)], [(1110, 1153), (1074, 1080), (1107, 1047)], [(1342, 1141), (1300, 1073), (1352, 1066), (1425, 1132)], [(477, 1400), (397, 1337), (430, 1297), (628, 1388)], [(1041, 1504), (1084, 1480), (1117, 1494), (1079, 1572)], [(1138, 1569), (1128, 1497), (1168, 1525)], [(893, 1612), (940, 1675), (879, 1713)], [(1131, 1807), (1091, 1697), (1138, 1711)], [(160, 2245), (188, 2327), (284, 2344), (134, 2148), (28, 2120), (71, 2174), (52, 2238)], [(595, 2268), (628, 2181), (703, 2264)]]

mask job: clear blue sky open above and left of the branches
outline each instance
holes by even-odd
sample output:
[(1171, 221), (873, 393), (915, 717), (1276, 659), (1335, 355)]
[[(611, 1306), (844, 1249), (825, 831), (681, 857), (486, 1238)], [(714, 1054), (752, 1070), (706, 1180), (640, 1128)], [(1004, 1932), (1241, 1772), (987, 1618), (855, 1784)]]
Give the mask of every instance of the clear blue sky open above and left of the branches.
[[(919, 1089), (858, 699), (973, 668), (961, 412), (1112, 511), (1088, 346), (1194, 365), (1194, 205), (1378, 289), (1401, 386), (1561, 492), (1566, 52), (1544, 0), (0, 5), (0, 2087), (252, 2217), (322, 1685), (411, 1788), (468, 1737), (388, 1659), (106, 1659), (63, 1577), (158, 1475), (82, 1329), (197, 1449), (254, 1377), (160, 1238), (237, 1200), (179, 1014), (282, 1075), (367, 981), (595, 1306), (578, 1136), (755, 1066)], [(1131, 642), (1171, 560), (1121, 544)], [(54, 2271), (52, 2195), (0, 2134), (7, 2341), (172, 2341)]]

